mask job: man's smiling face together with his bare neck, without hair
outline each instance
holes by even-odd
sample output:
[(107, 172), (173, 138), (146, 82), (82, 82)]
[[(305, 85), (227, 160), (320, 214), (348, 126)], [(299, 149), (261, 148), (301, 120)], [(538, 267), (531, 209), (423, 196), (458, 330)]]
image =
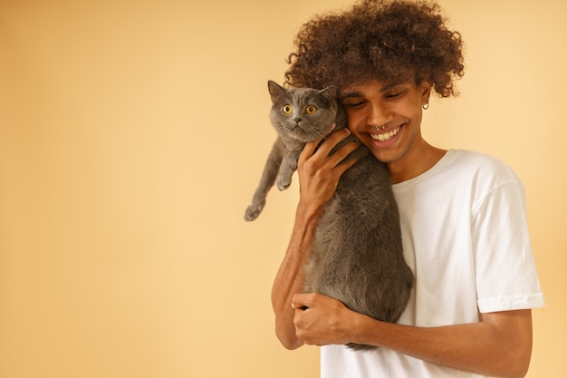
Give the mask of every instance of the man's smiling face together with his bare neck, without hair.
[(369, 82), (342, 90), (350, 130), (388, 164), (392, 183), (418, 176), (445, 154), (421, 137), (422, 108), (428, 107), (430, 91), (427, 81), (418, 85)]

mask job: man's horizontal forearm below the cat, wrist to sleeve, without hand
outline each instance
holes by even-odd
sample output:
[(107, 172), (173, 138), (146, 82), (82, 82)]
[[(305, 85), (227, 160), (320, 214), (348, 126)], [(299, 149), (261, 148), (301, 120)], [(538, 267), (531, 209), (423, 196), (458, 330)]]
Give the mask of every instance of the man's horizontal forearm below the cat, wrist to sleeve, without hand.
[(484, 315), (467, 325), (421, 328), (377, 322), (361, 316), (353, 340), (408, 354), (457, 370), (499, 377), (523, 377), (532, 352), (530, 310)]

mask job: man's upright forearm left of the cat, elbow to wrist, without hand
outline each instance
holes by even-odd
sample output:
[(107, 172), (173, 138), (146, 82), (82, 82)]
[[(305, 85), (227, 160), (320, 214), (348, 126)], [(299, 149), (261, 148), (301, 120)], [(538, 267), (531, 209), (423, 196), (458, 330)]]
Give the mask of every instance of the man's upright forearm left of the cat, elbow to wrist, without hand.
[(295, 334), (292, 298), (303, 291), (303, 267), (311, 252), (317, 218), (317, 213), (310, 213), (301, 204), (298, 206), (292, 237), (272, 287), (275, 333), (287, 349), (303, 345)]

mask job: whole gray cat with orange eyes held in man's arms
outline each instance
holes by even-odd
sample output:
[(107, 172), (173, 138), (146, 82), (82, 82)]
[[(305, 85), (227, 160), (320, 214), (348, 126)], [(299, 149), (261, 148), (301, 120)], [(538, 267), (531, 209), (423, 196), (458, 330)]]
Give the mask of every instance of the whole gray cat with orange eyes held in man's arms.
[[(268, 191), (277, 181), (280, 190), (290, 186), (297, 160), (307, 141), (347, 126), (336, 101), (336, 89), (285, 89), (268, 82), (272, 97), (270, 119), (278, 132), (262, 179), (245, 220), (257, 218)], [(346, 143), (352, 141), (349, 136)], [(341, 146), (342, 144), (340, 144)], [(339, 146), (338, 146), (339, 147)], [(335, 195), (322, 213), (305, 267), (305, 292), (339, 299), (351, 310), (395, 323), (408, 304), (413, 274), (401, 247), (398, 206), (386, 166), (364, 146), (360, 157), (339, 181)], [(349, 344), (354, 349), (370, 345)]]

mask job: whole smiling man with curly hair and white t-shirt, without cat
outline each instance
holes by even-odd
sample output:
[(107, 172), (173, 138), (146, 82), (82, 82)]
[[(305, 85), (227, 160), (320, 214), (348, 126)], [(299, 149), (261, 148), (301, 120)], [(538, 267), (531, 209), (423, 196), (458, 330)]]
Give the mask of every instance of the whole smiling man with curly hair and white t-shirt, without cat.
[[(304, 24), (289, 84), (336, 85), (349, 117), (298, 163), (300, 200), (274, 281), (276, 334), (295, 349), (322, 345), (323, 377), (521, 377), (532, 351), (531, 308), (543, 305), (525, 218), (524, 187), (503, 162), (423, 139), (429, 97), (455, 95), (460, 34), (437, 5), (363, 1)], [(353, 133), (384, 162), (399, 205), (404, 255), (416, 285), (398, 324), (302, 293), (317, 219), (332, 198)], [(369, 174), (372, 174), (369, 172)], [(360, 193), (361, 196), (364, 193)], [(348, 343), (377, 345), (357, 352)]]

